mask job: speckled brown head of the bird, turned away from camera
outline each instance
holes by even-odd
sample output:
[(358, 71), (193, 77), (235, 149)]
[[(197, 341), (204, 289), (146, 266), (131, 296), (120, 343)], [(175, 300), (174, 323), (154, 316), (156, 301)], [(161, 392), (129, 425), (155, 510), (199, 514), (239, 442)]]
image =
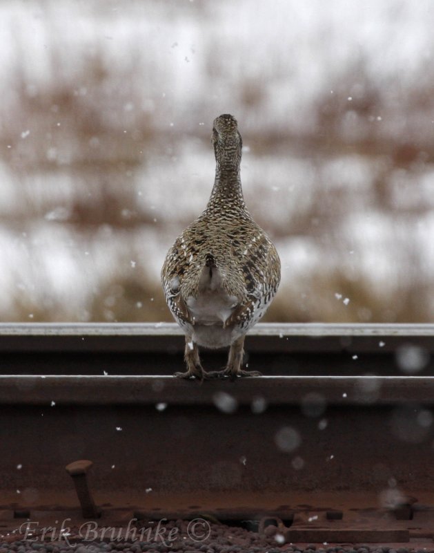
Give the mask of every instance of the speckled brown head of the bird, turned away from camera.
[(239, 166), (243, 141), (238, 131), (237, 120), (233, 115), (224, 113), (215, 118), (213, 124), (213, 146), (215, 160), (221, 169), (228, 166)]

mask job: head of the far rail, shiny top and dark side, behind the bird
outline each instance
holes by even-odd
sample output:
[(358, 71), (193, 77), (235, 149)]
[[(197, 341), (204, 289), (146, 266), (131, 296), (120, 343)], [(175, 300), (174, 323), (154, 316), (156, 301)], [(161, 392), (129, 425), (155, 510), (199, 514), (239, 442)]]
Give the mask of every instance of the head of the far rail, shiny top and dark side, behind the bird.
[[(0, 324), (0, 351), (179, 351), (175, 323)], [(248, 350), (385, 352), (400, 344), (434, 351), (434, 324), (259, 323), (246, 337)]]

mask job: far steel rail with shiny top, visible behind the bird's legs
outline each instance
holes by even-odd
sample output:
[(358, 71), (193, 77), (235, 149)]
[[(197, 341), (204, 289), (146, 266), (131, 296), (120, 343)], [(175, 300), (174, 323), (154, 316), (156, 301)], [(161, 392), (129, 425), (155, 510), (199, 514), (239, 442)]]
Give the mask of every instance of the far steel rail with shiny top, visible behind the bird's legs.
[[(258, 324), (245, 349), (246, 364), (264, 375), (434, 376), (434, 325)], [(172, 375), (183, 350), (175, 324), (0, 324), (4, 375)], [(413, 373), (400, 366), (406, 353), (420, 357)], [(201, 356), (213, 370), (227, 351)]]

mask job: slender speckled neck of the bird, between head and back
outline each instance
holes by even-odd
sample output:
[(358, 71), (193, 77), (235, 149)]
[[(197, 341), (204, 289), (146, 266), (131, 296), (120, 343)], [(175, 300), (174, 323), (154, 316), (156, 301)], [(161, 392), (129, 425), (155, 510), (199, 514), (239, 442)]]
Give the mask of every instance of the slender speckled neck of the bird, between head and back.
[(208, 209), (221, 203), (229, 203), (233, 208), (245, 209), (239, 163), (219, 164), (215, 167), (213, 191), (208, 202)]

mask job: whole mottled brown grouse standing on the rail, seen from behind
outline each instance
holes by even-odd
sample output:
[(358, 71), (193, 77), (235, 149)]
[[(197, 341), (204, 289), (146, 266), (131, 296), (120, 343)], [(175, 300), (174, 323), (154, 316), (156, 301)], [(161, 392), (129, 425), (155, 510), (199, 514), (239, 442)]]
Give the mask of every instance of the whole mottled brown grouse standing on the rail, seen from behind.
[[(213, 379), (260, 376), (241, 368), (246, 332), (261, 319), (277, 292), (280, 259), (253, 221), (241, 188), (242, 139), (237, 120), (213, 122), (215, 181), (208, 205), (170, 247), (161, 269), (168, 307), (184, 331), (186, 372), (175, 377)], [(205, 371), (198, 346), (229, 346), (221, 371)]]

